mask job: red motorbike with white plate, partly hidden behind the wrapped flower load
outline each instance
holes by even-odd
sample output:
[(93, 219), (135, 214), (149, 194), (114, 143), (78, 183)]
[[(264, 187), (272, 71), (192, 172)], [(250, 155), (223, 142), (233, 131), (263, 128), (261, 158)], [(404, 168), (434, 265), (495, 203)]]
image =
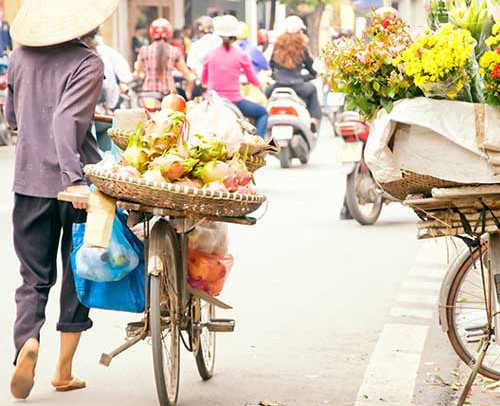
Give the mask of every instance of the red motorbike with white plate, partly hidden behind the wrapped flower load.
[(378, 187), (363, 158), (370, 126), (361, 120), (359, 113), (345, 111), (335, 122), (335, 128), (343, 140), (337, 161), (347, 174), (343, 210), (361, 225), (372, 225), (379, 218), (384, 202), (393, 199)]

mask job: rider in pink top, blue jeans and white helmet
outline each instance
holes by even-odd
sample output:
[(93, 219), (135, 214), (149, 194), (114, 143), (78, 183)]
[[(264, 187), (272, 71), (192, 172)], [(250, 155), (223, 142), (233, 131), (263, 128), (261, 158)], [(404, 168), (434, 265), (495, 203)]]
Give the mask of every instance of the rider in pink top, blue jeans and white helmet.
[(240, 92), (242, 70), (249, 83), (255, 86), (260, 86), (260, 83), (248, 55), (233, 46), (239, 34), (238, 20), (225, 15), (215, 17), (213, 21), (214, 33), (222, 37), (222, 45), (205, 56), (201, 83), (236, 104), (244, 116), (255, 119), (257, 134), (264, 137), (268, 118), (266, 109), (260, 104), (244, 99)]

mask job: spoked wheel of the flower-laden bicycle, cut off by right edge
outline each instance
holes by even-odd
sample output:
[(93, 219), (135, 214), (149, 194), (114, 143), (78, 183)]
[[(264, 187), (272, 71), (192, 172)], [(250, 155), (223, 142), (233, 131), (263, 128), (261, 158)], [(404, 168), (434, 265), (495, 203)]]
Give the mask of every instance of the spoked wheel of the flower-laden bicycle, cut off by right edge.
[[(485, 270), (484, 278), (481, 276), (480, 256)], [(486, 309), (489, 299), (486, 301), (484, 293), (490, 292), (488, 272), (488, 250), (486, 244), (482, 243), (481, 249), (474, 249), (460, 265), (447, 294), (448, 338), (457, 355), (471, 367), (477, 362), (482, 347), (481, 338), (488, 330)], [(495, 381), (500, 380), (500, 346), (494, 341), (482, 359), (478, 372)]]

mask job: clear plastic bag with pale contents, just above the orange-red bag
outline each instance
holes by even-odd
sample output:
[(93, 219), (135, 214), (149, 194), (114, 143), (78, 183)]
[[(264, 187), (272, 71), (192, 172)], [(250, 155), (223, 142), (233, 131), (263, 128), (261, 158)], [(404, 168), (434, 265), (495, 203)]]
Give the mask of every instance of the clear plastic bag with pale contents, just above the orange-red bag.
[(228, 252), (228, 230), (224, 223), (204, 221), (189, 235), (189, 248), (224, 256)]

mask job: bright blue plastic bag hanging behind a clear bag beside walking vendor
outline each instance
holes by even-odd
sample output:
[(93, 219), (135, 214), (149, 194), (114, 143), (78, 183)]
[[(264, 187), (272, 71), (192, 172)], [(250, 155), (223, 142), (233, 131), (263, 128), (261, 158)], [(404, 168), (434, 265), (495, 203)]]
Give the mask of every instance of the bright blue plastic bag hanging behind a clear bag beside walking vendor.
[(127, 216), (122, 211), (117, 211), (115, 221), (121, 223), (123, 235), (138, 256), (139, 264), (133, 271), (115, 282), (96, 282), (82, 278), (76, 272), (75, 260), (78, 250), (83, 246), (85, 223), (75, 223), (71, 264), (76, 294), (80, 302), (89, 308), (142, 313), (146, 306), (144, 245), (127, 227)]

